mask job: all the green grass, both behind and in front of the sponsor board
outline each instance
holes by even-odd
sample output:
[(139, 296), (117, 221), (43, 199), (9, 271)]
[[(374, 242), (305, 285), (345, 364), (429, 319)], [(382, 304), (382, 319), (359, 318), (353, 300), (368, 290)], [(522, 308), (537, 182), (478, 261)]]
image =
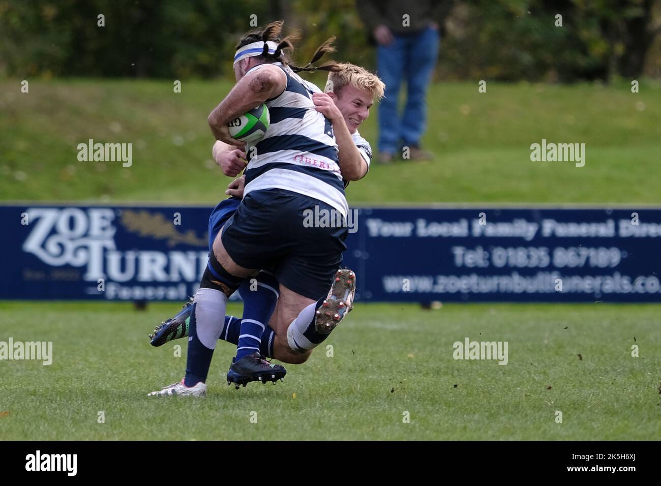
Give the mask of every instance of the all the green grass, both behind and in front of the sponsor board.
[[(184, 80), (182, 93), (173, 93), (171, 81), (35, 80), (29, 93), (19, 86), (0, 82), (0, 200), (211, 207), (224, 198), (229, 179), (211, 159), (206, 117), (232, 83)], [(625, 82), (489, 81), (487, 93), (477, 83), (434, 84), (423, 140), (434, 162), (373, 167), (351, 184), (348, 200), (661, 204), (658, 178), (650, 177), (661, 151), (660, 102), (661, 85), (651, 81), (641, 82), (640, 93)], [(373, 147), (376, 118), (373, 112), (360, 130)], [(132, 167), (79, 162), (77, 144), (90, 138), (133, 143)], [(531, 162), (529, 146), (542, 139), (586, 143), (586, 165)], [(307, 363), (288, 366), (284, 383), (227, 387), (234, 348), (219, 343), (206, 399), (147, 397), (186, 367), (186, 340), (161, 348), (147, 341), (153, 325), (177, 310), (0, 302), (0, 341), (52, 341), (54, 352), (50, 366), (0, 361), (0, 438), (661, 436), (661, 305), (455, 304), (423, 311), (359, 304)], [(507, 341), (508, 364), (454, 360), (453, 343), (466, 337)], [(180, 357), (175, 344), (182, 345)]]

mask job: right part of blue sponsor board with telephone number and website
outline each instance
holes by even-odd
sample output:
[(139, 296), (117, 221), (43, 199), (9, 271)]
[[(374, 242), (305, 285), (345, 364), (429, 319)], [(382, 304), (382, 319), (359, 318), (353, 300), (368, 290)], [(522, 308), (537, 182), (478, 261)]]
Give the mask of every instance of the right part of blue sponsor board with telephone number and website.
[(359, 221), (368, 300), (661, 302), (658, 209), (368, 209)]

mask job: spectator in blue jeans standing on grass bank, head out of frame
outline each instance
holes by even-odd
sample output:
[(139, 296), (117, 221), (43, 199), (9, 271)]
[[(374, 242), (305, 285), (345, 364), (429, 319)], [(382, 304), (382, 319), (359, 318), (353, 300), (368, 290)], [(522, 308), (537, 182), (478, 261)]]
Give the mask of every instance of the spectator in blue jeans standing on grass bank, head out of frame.
[[(426, 128), (426, 95), (438, 58), (439, 26), (446, 1), (357, 0), (358, 12), (377, 42), (378, 75), (385, 83), (379, 106), (379, 158), (391, 163), (402, 147), (413, 160), (429, 160), (420, 138)], [(406, 17), (408, 16), (408, 17)], [(399, 89), (407, 83), (403, 116), (397, 112)]]

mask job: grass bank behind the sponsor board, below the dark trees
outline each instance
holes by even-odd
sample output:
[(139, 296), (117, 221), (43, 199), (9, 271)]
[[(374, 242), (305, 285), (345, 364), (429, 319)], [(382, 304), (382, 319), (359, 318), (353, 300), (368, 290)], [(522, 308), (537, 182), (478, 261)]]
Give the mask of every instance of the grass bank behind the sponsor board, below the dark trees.
[[(317, 78), (319, 83), (319, 78)], [(323, 83), (322, 83), (323, 84)], [(228, 81), (0, 82), (0, 200), (215, 204), (229, 182), (211, 158), (210, 110)], [(428, 95), (432, 163), (376, 166), (350, 204), (661, 204), (661, 86), (439, 83)], [(376, 111), (361, 129), (376, 147)], [(131, 142), (133, 165), (77, 161), (77, 144)], [(531, 162), (530, 145), (586, 143), (585, 167)]]

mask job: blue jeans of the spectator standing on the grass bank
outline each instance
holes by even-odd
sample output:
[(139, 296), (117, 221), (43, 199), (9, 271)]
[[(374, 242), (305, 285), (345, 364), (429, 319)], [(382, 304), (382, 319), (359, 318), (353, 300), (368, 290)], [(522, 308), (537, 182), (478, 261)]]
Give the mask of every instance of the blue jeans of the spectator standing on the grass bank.
[[(377, 48), (378, 75), (385, 83), (379, 106), (379, 151), (395, 153), (403, 145), (419, 145), (426, 128), (427, 86), (440, 44), (438, 30), (426, 28), (416, 34), (394, 35), (389, 46)], [(403, 117), (397, 113), (401, 82), (407, 83)]]

